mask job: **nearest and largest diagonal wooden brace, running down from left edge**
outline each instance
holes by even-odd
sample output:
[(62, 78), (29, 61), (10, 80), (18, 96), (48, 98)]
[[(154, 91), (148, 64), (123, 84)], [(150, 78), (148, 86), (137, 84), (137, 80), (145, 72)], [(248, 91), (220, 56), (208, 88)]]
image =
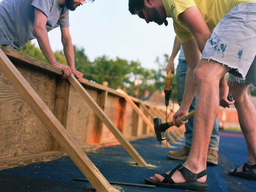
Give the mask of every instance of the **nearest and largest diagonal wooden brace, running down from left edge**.
[(60, 121), (57, 120), (1, 49), (0, 69), (92, 186), (99, 192), (118, 192), (79, 148)]

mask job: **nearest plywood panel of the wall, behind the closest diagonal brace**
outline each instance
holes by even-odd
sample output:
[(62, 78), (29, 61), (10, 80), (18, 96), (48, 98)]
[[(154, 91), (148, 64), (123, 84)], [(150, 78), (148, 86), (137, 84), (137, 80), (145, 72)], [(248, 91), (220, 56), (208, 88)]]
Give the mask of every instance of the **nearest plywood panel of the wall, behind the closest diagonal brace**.
[[(54, 111), (56, 80), (46, 73), (17, 66), (45, 104)], [(0, 158), (50, 150), (52, 135), (0, 72)]]

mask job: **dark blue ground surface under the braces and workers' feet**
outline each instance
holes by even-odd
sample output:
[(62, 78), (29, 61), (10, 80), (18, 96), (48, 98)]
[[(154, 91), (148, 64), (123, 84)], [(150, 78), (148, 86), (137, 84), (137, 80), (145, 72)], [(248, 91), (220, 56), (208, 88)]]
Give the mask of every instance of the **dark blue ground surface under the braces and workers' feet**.
[[(135, 161), (121, 145), (108, 146), (87, 155), (108, 181), (138, 184), (127, 186), (112, 184), (120, 192), (184, 192), (186, 190), (171, 188), (148, 188), (144, 178), (155, 173), (171, 170), (181, 160), (166, 157), (168, 148), (148, 137), (131, 141), (132, 146), (151, 164), (151, 167), (137, 166)], [(200, 144), (200, 143), (198, 143)], [(178, 151), (184, 146), (184, 138), (171, 144), (169, 150)], [(208, 166), (206, 183), (207, 192), (254, 192), (256, 181), (229, 176), (228, 172), (246, 162), (247, 149), (241, 132), (220, 131), (219, 164)], [(84, 175), (67, 156), (57, 160), (29, 164), (0, 171), (0, 192), (94, 192), (93, 186), (84, 179)]]

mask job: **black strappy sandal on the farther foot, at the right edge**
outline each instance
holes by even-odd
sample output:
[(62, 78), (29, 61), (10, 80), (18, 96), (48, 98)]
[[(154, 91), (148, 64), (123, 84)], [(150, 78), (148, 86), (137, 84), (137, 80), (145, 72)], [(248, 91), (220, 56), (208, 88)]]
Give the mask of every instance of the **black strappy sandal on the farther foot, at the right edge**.
[[(246, 168), (249, 169), (249, 171), (246, 171)], [(236, 172), (237, 168), (235, 168), (234, 171), (230, 171), (228, 172), (229, 175), (232, 176), (237, 176), (237, 177), (243, 177), (249, 180), (256, 180), (256, 174), (254, 172), (252, 172), (252, 169), (256, 168), (256, 164), (254, 165), (248, 165), (247, 163), (244, 164), (243, 166), (243, 172)]]

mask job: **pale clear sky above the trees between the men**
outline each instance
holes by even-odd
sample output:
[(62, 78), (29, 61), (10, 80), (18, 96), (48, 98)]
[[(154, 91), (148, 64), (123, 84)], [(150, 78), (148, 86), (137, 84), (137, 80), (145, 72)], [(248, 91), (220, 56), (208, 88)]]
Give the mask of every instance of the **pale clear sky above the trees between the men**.
[[(70, 11), (69, 16), (72, 44), (84, 48), (90, 61), (105, 55), (113, 60), (138, 61), (143, 68), (157, 70), (156, 58), (165, 64), (164, 54), (172, 53), (172, 19), (167, 19), (167, 27), (147, 24), (128, 11), (128, 0), (95, 0)], [(53, 51), (63, 49), (60, 28), (48, 32), (48, 36)], [(36, 40), (32, 43), (38, 46)]]

